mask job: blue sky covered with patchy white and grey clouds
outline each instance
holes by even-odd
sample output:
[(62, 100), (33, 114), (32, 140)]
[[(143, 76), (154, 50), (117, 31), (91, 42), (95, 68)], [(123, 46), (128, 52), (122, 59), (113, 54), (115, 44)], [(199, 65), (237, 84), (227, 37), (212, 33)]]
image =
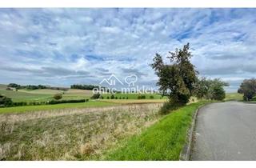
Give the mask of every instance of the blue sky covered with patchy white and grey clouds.
[(200, 76), (236, 92), (256, 74), (256, 9), (0, 9), (0, 83), (155, 86), (154, 54), (190, 42)]

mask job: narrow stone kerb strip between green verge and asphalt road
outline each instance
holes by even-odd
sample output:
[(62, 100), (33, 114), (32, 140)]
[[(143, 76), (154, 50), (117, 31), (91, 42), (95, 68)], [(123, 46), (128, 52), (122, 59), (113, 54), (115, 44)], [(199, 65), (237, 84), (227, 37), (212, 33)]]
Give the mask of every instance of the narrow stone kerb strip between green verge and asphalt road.
[(190, 160), (190, 154), (191, 154), (191, 150), (192, 150), (192, 141), (193, 141), (193, 137), (194, 137), (194, 127), (195, 127), (196, 118), (198, 116), (198, 111), (203, 106), (206, 106), (208, 104), (209, 103), (206, 103), (202, 106), (199, 106), (198, 109), (194, 113), (190, 129), (187, 131), (187, 134), (186, 134), (186, 140), (187, 141), (186, 141), (185, 145), (183, 146), (183, 149), (182, 149), (181, 153), (179, 154), (179, 160), (180, 161), (189, 161)]

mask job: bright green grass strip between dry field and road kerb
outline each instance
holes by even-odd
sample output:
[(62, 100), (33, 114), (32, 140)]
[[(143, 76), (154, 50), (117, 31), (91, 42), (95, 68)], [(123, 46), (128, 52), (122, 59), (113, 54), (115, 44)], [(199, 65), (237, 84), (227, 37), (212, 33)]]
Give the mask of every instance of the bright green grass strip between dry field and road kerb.
[(142, 134), (111, 151), (106, 160), (178, 160), (194, 112), (206, 103), (196, 102), (174, 110)]

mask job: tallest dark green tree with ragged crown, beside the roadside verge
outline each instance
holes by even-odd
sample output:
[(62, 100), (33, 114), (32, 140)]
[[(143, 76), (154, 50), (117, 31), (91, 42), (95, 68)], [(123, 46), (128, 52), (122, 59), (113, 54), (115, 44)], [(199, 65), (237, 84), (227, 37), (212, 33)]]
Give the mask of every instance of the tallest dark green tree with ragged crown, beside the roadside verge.
[(167, 95), (170, 102), (176, 105), (185, 105), (189, 102), (194, 83), (197, 80), (198, 72), (190, 62), (192, 54), (190, 53), (190, 44), (187, 43), (182, 49), (176, 49), (169, 52), (167, 57), (170, 63), (166, 64), (160, 54), (154, 56), (154, 63), (150, 66), (158, 75), (159, 90)]

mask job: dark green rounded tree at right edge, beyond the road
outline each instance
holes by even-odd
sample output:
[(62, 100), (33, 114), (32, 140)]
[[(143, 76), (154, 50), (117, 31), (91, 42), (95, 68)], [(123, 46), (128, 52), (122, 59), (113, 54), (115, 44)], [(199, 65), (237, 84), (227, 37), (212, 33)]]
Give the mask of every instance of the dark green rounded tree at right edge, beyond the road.
[(238, 89), (239, 94), (243, 94), (244, 101), (250, 101), (256, 95), (256, 79), (245, 79), (240, 88)]

